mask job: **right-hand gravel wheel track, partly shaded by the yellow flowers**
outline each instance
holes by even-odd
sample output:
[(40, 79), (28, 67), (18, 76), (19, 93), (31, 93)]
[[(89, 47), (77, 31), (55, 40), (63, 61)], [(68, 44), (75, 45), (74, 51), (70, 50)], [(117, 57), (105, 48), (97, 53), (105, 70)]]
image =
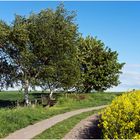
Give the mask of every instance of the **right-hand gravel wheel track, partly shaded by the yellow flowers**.
[(82, 120), (63, 139), (100, 139), (99, 118), (94, 114)]

